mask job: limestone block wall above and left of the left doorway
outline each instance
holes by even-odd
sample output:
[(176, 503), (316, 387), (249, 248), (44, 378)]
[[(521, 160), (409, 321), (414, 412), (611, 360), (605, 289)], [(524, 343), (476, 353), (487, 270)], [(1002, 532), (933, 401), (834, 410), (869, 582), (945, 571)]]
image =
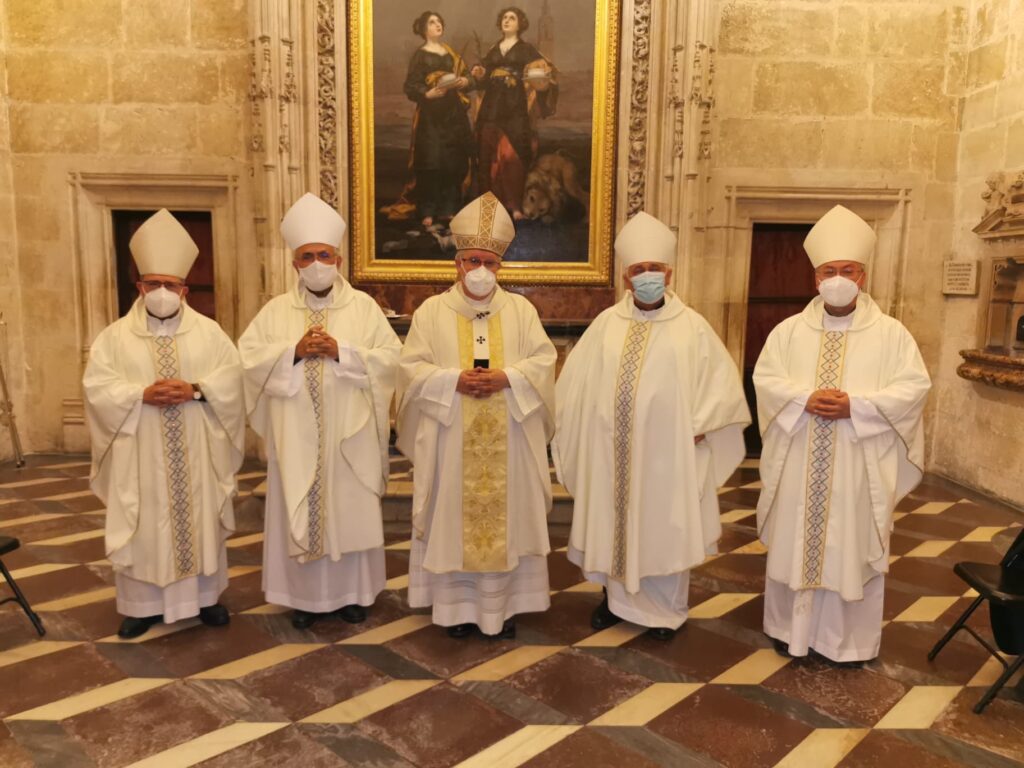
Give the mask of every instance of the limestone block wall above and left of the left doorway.
[(65, 447), (61, 403), (80, 397), (70, 174), (248, 183), (247, 19), (246, 0), (0, 0), (0, 238), (16, 237), (0, 245), (0, 301), (19, 284), (27, 449)]

